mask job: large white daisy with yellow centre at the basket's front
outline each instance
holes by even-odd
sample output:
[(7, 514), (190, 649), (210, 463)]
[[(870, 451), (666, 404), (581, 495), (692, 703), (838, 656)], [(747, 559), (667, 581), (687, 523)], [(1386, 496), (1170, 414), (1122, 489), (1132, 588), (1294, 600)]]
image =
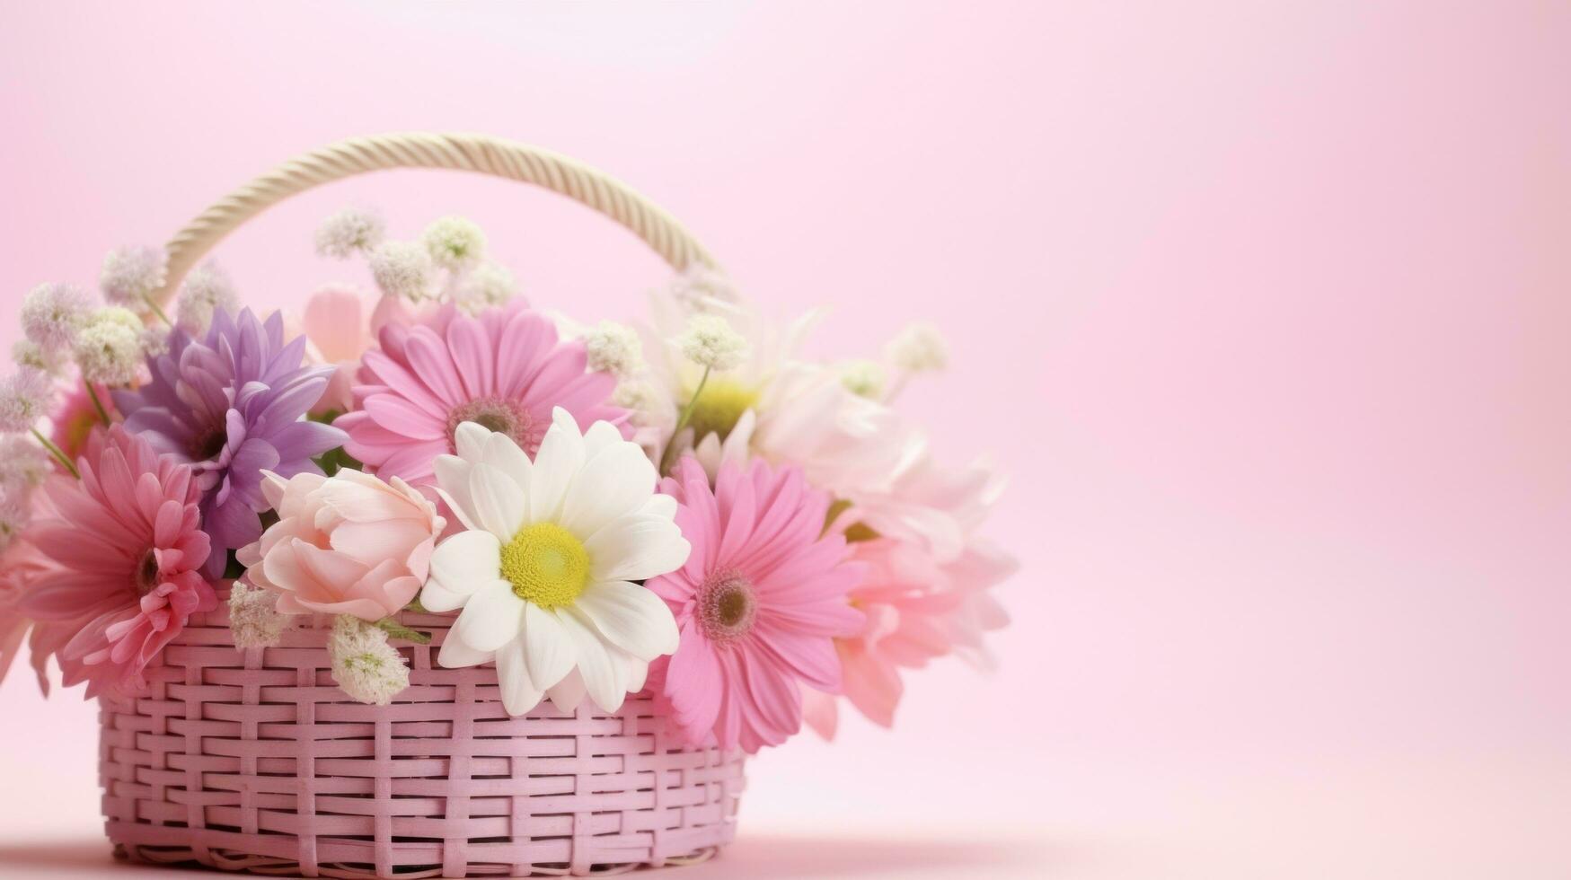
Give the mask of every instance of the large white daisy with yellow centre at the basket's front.
[(677, 649), (666, 603), (633, 581), (676, 570), (691, 547), (655, 493), (655, 468), (614, 426), (580, 434), (567, 410), (531, 462), (506, 434), (457, 429), (437, 486), (468, 531), (430, 556), (421, 605), (462, 608), (445, 668), (496, 662), (512, 715), (544, 696), (564, 712), (588, 693), (614, 712), (644, 687), (649, 662)]

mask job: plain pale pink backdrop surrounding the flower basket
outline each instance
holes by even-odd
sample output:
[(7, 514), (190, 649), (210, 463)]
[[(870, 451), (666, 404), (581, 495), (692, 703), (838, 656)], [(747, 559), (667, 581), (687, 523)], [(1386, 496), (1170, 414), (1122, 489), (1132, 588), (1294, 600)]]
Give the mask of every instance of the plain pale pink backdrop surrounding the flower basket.
[[(1178, 6), (11, 0), (0, 297), (339, 137), (567, 152), (782, 314), (836, 303), (823, 354), (939, 322), (955, 365), (903, 402), (1013, 473), (1002, 669), (762, 756), (688, 877), (1565, 877), (1571, 9)], [(298, 305), (360, 201), (474, 217), (583, 317), (665, 277), (435, 173), (220, 259)], [(24, 673), (0, 718), (0, 874), (96, 874), (91, 707)]]

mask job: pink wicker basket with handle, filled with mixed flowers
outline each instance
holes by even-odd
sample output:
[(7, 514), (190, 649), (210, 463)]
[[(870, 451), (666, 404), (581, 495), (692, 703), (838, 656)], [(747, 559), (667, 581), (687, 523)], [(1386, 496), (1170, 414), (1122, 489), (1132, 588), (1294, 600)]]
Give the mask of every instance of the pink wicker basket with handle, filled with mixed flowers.
[[(643, 319), (581, 325), (517, 295), (474, 223), (396, 240), (363, 209), (316, 247), (374, 299), (331, 284), (295, 317), (192, 269), (308, 182), (410, 163), (611, 192), (680, 272)], [(347, 141), (240, 195), (112, 253), (102, 300), (28, 292), (0, 385), (0, 673), (25, 641), (41, 687), (53, 657), (101, 699), (126, 856), (702, 858), (746, 754), (833, 737), (842, 696), (891, 724), (905, 669), (985, 660), (998, 479), (939, 467), (894, 407), (944, 365), (933, 328), (807, 360), (814, 316), (770, 321), (636, 195), (507, 141)]]

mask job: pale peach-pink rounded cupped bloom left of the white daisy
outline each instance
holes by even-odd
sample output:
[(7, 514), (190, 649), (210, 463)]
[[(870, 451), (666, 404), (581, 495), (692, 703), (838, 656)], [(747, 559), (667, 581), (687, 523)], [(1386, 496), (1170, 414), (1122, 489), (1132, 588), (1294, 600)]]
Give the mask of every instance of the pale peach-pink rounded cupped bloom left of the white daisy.
[(284, 614), (380, 621), (397, 613), (426, 583), (446, 526), (402, 479), (388, 484), (358, 470), (287, 481), (269, 473), (262, 493), (280, 519), (237, 558), (253, 586), (278, 592)]

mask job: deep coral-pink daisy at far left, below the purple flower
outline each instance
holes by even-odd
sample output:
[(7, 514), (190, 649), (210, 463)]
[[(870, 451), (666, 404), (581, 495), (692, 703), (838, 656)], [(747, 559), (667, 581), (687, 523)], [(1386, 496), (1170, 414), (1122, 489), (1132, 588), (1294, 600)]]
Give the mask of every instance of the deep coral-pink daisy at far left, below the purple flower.
[(88, 696), (145, 687), (143, 669), (193, 611), (217, 607), (201, 577), (207, 534), (190, 465), (159, 457), (115, 426), (94, 434), (77, 462), (80, 481), (46, 489), (53, 519), (28, 539), (53, 566), (38, 575), (22, 611), (38, 621), (85, 621), (60, 649), (66, 685)]

